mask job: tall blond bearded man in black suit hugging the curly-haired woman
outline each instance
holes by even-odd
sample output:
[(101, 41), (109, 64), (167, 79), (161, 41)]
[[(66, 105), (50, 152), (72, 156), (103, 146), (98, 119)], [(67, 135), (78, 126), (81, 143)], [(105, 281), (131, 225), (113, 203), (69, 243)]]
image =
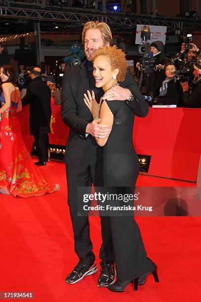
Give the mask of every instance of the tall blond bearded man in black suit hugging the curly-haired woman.
[[(112, 34), (108, 25), (104, 22), (87, 22), (82, 32), (82, 42), (87, 60), (80, 66), (66, 68), (62, 84), (62, 119), (70, 127), (65, 152), (68, 205), (74, 232), (75, 253), (79, 257), (79, 263), (66, 278), (69, 284), (74, 284), (86, 275), (97, 272), (90, 239), (89, 219), (77, 215), (77, 204), (83, 204), (83, 198), (81, 196), (78, 198), (77, 188), (86, 187), (86, 193), (89, 193), (92, 183), (95, 187), (103, 186), (102, 149), (97, 145), (95, 137), (104, 138), (111, 132), (108, 125), (93, 120), (83, 100), (87, 90), (95, 92), (98, 102), (104, 94), (102, 88), (96, 88), (92, 61), (96, 49), (112, 43)], [(145, 115), (148, 113), (148, 105), (142, 100), (129, 70), (125, 81), (120, 83), (120, 86), (109, 89), (103, 99), (127, 100), (134, 112), (140, 109)], [(114, 253), (109, 217), (100, 217), (100, 222), (102, 245), (98, 286), (106, 287), (115, 281)]]

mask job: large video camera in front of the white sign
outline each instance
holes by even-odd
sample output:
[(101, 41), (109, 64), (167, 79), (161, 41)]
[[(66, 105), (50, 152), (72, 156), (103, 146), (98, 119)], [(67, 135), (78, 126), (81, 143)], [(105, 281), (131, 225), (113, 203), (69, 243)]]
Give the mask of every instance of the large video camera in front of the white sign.
[(154, 72), (155, 59), (153, 53), (150, 51), (150, 43), (148, 43), (150, 39), (151, 33), (149, 26), (141, 26), (141, 44), (137, 47), (137, 53), (142, 56), (141, 64), (145, 74)]

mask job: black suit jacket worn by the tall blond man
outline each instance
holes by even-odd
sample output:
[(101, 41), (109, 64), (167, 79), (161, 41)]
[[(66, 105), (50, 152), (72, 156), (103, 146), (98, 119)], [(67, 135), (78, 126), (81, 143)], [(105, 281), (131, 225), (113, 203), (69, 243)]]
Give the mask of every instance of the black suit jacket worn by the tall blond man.
[[(149, 107), (142, 99), (142, 95), (137, 87), (134, 77), (130, 70), (127, 71), (124, 82), (120, 85), (129, 88), (137, 101), (129, 103), (129, 106), (138, 116), (146, 116)], [(62, 82), (62, 119), (70, 127), (70, 133), (67, 140), (67, 147), (64, 160), (67, 164), (80, 166), (89, 162), (90, 144), (96, 144), (91, 135), (86, 137), (86, 126), (93, 120), (93, 117), (84, 103), (84, 93), (89, 88), (89, 79), (87, 77), (86, 61), (79, 66), (67, 68), (64, 72)], [(104, 92), (101, 89), (96, 100), (99, 102)], [(99, 147), (97, 144), (97, 153)]]

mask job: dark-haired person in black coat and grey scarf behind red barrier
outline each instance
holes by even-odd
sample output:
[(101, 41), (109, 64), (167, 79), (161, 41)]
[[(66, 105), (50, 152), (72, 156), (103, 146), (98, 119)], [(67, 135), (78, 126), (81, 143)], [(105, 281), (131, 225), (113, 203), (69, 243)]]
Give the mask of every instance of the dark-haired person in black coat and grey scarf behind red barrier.
[(160, 95), (157, 99), (159, 105), (179, 105), (180, 93), (179, 84), (174, 80), (176, 67), (173, 64), (166, 64), (164, 67), (166, 79), (160, 88)]

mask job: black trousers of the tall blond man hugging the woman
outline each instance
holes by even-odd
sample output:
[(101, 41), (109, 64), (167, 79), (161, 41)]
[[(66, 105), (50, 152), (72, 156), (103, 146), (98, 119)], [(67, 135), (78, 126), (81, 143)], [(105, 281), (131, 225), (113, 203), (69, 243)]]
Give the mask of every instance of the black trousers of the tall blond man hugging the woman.
[[(91, 263), (95, 260), (92, 251), (93, 245), (90, 239), (89, 218), (77, 215), (77, 202), (82, 202), (83, 198), (78, 198), (77, 187), (87, 187), (85, 193), (91, 192), (92, 183), (96, 187), (102, 187), (102, 154), (95, 152), (95, 147), (90, 146), (91, 160), (89, 163), (79, 167), (66, 165), (68, 205), (70, 208), (70, 217), (74, 233), (75, 253), (80, 260)], [(92, 156), (94, 155), (94, 156)], [(96, 155), (96, 156), (95, 156)], [(114, 262), (114, 253), (112, 247), (110, 218), (100, 217), (102, 245), (100, 248), (100, 259), (108, 263)], [(100, 263), (101, 264), (101, 263)]]

